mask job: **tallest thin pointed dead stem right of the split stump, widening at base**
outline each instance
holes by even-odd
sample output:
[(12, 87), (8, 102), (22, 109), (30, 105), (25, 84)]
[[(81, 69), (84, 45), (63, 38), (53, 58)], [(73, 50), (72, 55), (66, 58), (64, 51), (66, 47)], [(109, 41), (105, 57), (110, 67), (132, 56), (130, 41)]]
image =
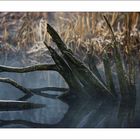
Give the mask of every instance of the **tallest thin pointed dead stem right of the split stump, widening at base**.
[[(105, 19), (105, 21), (106, 21), (106, 23), (107, 23), (107, 25), (110, 29), (110, 32), (111, 32), (112, 38), (113, 38), (113, 40), (112, 40), (112, 44), (113, 44), (112, 52), (113, 52), (114, 62), (115, 62), (115, 65), (116, 65), (116, 72), (117, 72), (117, 76), (118, 76), (118, 80), (119, 80), (121, 98), (122, 98), (122, 100), (130, 100), (130, 98), (132, 96), (135, 96), (135, 91), (136, 91), (134, 84), (131, 85), (130, 80), (128, 80), (128, 77), (130, 79), (130, 77), (132, 75), (132, 71), (135, 73), (135, 70), (134, 70), (135, 67), (134, 67), (134, 65), (132, 66), (132, 63), (131, 63), (133, 61), (133, 59), (129, 56), (131, 71), (130, 71), (130, 68), (129, 68), (128, 69), (129, 73), (127, 74), (126, 73), (127, 69), (125, 68), (124, 60), (121, 56), (120, 45), (116, 40), (116, 37), (114, 35), (114, 31), (113, 31), (108, 19), (106, 18), (106, 16), (104, 16), (104, 19)], [(107, 65), (107, 63), (104, 63), (105, 71), (108, 71), (108, 72), (105, 72), (106, 77), (109, 77), (109, 75), (110, 75), (110, 69), (107, 68), (108, 65)], [(133, 75), (133, 78), (134, 78), (134, 75)], [(107, 78), (107, 79), (108, 79), (108, 83), (111, 87), (112, 78)]]

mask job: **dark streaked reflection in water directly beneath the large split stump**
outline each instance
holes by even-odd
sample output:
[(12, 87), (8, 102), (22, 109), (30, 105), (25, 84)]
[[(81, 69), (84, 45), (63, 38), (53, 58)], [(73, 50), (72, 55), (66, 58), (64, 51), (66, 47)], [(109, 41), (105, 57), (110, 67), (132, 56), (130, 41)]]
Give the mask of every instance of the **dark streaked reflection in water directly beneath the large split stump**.
[(97, 127), (97, 124), (112, 111), (108, 99), (91, 99), (73, 103), (57, 127)]

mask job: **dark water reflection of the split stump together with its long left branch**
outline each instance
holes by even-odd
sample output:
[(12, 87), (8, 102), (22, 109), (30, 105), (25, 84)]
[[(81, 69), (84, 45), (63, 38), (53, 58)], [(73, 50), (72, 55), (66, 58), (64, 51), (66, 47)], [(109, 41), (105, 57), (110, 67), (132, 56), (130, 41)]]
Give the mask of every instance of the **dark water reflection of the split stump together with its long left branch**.
[[(110, 108), (109, 108), (110, 106)], [(113, 105), (114, 106), (114, 105)], [(75, 128), (75, 127), (100, 127), (109, 118), (113, 110), (112, 103), (108, 99), (73, 100), (69, 101), (69, 110), (58, 124), (40, 124), (25, 120), (1, 120), (0, 125), (25, 125), (27, 127), (46, 128)], [(104, 121), (103, 121), (104, 119)]]

